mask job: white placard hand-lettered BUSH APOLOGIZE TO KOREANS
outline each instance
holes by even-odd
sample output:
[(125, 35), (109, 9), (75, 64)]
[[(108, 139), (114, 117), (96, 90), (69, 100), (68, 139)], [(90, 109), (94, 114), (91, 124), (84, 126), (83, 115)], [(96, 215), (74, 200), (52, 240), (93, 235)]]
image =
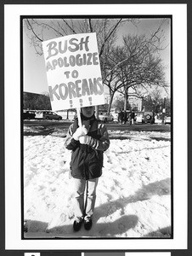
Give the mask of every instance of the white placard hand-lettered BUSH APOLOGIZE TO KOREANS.
[(52, 109), (104, 104), (96, 33), (42, 43)]

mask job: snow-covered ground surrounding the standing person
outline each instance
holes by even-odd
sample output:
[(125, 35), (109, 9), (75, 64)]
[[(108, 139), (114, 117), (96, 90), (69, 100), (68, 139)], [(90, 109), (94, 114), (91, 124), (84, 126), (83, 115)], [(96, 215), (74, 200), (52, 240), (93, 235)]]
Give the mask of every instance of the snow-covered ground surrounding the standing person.
[(25, 237), (172, 235), (170, 132), (109, 133), (93, 227), (78, 232), (72, 229), (71, 152), (64, 147), (64, 131), (24, 136)]

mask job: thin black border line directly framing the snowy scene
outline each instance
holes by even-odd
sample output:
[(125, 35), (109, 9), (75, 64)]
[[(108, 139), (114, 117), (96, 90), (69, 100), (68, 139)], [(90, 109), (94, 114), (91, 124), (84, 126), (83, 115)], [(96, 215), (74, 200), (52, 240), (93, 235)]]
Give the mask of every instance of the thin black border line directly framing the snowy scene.
[[(46, 15), (46, 16), (41, 16), (41, 15), (30, 15), (30, 16), (20, 16), (20, 116), (22, 116), (23, 114), (23, 92), (24, 92), (24, 46), (23, 46), (23, 20), (25, 19), (87, 19), (87, 18), (91, 18), (91, 19), (104, 19), (104, 18), (108, 18), (108, 19), (163, 19), (163, 18), (167, 18), (170, 19), (170, 98), (171, 98), (171, 113), (173, 115), (173, 106), (172, 106), (172, 15), (63, 15), (63, 16), (59, 16), (59, 15)], [(24, 120), (20, 119), (20, 132), (21, 132), (21, 137), (20, 137), (20, 141), (21, 141), (21, 239), (24, 240), (48, 240), (48, 237), (25, 237), (25, 226), (24, 221), (25, 221), (25, 217), (24, 217), (24, 131), (23, 131), (23, 127), (24, 127)], [(170, 237), (88, 237), (89, 240), (96, 240), (96, 239), (101, 239), (101, 240), (131, 240), (131, 239), (151, 239), (151, 240), (167, 240), (167, 239), (172, 239), (174, 234), (173, 234), (173, 131), (172, 131), (172, 122), (171, 122), (171, 157), (170, 157), (170, 163), (171, 163), (171, 167), (170, 167), (170, 173), (171, 173), (171, 236)], [(86, 237), (53, 237), (50, 239), (56, 239), (56, 240), (85, 240)]]

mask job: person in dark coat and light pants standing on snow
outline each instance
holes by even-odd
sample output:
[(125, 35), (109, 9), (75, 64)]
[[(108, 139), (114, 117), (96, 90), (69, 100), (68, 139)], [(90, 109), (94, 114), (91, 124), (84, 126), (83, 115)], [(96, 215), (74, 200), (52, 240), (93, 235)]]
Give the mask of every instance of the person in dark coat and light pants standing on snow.
[[(81, 108), (82, 124), (76, 118), (65, 139), (65, 148), (72, 150), (71, 176), (75, 185), (75, 221), (78, 231), (84, 221), (85, 230), (92, 227), (96, 188), (102, 175), (103, 154), (110, 146), (108, 131), (94, 116), (94, 107)], [(84, 201), (85, 195), (85, 201)]]

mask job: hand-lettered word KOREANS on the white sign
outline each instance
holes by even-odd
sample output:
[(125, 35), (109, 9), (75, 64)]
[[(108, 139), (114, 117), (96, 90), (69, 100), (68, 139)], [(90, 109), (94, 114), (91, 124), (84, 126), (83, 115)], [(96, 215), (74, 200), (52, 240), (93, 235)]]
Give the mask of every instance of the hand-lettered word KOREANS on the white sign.
[(52, 86), (48, 86), (48, 90), (51, 102), (54, 101), (54, 96), (57, 100), (65, 100), (67, 97), (72, 99), (86, 95), (102, 95), (104, 93), (101, 78), (79, 79), (67, 84), (56, 84), (54, 88)]

